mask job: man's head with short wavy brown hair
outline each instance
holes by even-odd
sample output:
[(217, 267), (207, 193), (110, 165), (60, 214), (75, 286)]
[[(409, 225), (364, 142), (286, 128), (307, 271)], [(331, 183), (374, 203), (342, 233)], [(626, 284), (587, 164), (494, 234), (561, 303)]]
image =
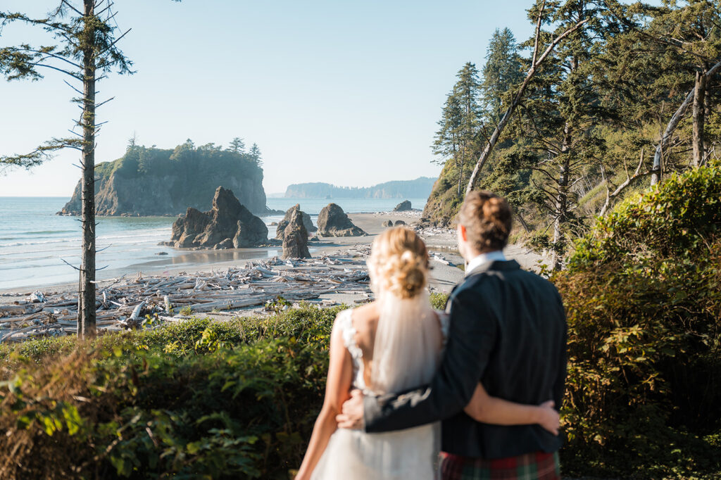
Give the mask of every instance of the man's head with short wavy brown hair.
[(495, 193), (470, 192), (461, 205), (458, 224), (458, 245), (466, 260), (479, 254), (503, 250), (508, 244), (511, 218), (510, 205)]

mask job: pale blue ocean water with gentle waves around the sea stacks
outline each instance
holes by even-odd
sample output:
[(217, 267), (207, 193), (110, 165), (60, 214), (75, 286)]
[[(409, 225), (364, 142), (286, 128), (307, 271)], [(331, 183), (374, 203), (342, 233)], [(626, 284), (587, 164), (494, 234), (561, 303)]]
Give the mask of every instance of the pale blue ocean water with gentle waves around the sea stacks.
[[(80, 222), (77, 217), (56, 215), (69, 197), (0, 197), (0, 290), (29, 291), (33, 287), (72, 283), (78, 273), (66, 265), (80, 263)], [(413, 208), (423, 208), (425, 199), (410, 198)], [(314, 223), (318, 213), (329, 202), (340, 205), (346, 213), (385, 212), (402, 199), (335, 198), (268, 198), (273, 210), (287, 210), (296, 203), (311, 215)], [(268, 235), (275, 236), (275, 227), (283, 215), (263, 217)], [(199, 255), (172, 247), (159, 246), (170, 239), (174, 217), (99, 217), (97, 226), (97, 279), (115, 278), (138, 271), (182, 268), (202, 270)], [(167, 255), (158, 255), (165, 252)], [(205, 254), (207, 262), (242, 260), (262, 256), (273, 257), (279, 249), (239, 249), (213, 251)]]

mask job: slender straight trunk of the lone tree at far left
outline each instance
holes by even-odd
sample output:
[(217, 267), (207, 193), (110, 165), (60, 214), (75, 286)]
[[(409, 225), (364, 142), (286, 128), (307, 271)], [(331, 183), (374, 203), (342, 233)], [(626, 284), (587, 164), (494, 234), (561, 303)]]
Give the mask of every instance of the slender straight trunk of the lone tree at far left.
[[(94, 23), (94, 0), (84, 0), (87, 38)], [(95, 57), (92, 46), (83, 52), (83, 185), (81, 222), (83, 243), (78, 294), (78, 336), (93, 337), (95, 329)]]

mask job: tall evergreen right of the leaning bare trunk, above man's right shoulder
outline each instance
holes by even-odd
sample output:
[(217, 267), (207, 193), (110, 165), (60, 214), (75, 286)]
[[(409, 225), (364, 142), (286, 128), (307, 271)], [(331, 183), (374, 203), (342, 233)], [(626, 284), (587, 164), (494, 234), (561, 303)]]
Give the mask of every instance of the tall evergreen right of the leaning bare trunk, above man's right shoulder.
[[(537, 205), (550, 215), (553, 267), (561, 266), (570, 228), (578, 221), (575, 211), (580, 197), (590, 190), (606, 150), (596, 125), (606, 112), (599, 107), (593, 83), (594, 41), (606, 25), (600, 9), (588, 0), (569, 0), (546, 9), (544, 21), (565, 31), (588, 22), (559, 45), (554, 58), (536, 76), (523, 105), (523, 128), (531, 144), (526, 157), (534, 171), (531, 183)], [(585, 186), (585, 187), (584, 187)]]

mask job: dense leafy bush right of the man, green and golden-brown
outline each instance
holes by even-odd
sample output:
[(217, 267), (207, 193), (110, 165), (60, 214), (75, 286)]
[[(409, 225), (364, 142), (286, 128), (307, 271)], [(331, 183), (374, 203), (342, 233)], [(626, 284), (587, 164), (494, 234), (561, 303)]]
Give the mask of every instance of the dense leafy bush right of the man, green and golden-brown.
[(553, 277), (569, 323), (567, 473), (721, 476), (721, 168), (601, 218)]

